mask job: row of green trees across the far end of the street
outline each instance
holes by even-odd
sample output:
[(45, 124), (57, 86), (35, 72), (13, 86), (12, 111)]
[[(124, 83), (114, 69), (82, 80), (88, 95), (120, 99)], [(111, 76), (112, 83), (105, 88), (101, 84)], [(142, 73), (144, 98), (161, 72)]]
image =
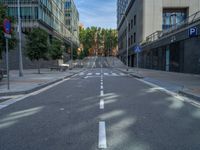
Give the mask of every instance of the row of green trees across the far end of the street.
[(80, 42), (85, 56), (95, 53), (110, 55), (117, 47), (117, 31), (97, 27), (80, 28)]

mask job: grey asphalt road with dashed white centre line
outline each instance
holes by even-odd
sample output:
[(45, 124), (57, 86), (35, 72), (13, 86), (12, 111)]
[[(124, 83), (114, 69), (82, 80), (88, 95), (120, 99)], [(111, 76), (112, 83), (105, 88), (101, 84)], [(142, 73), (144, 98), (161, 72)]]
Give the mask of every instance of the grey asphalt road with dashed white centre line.
[(200, 149), (198, 107), (92, 60), (85, 72), (1, 109), (0, 150)]

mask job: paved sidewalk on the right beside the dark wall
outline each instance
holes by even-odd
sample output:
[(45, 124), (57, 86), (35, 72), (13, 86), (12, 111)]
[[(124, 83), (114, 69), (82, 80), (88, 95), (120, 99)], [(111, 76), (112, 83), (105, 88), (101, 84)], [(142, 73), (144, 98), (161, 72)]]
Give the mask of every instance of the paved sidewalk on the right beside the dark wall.
[[(127, 73), (126, 68), (119, 70)], [(129, 68), (128, 73), (169, 91), (200, 101), (200, 75), (136, 68)]]

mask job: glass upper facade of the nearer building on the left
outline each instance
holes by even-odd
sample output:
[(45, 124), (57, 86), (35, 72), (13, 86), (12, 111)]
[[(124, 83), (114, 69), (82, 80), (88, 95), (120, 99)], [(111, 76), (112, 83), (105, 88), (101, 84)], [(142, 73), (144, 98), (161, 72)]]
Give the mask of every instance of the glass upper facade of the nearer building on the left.
[[(17, 20), (17, 0), (0, 0), (8, 6), (8, 14)], [(40, 27), (50, 35), (68, 39), (71, 34), (65, 25), (64, 0), (20, 0), (22, 31)]]

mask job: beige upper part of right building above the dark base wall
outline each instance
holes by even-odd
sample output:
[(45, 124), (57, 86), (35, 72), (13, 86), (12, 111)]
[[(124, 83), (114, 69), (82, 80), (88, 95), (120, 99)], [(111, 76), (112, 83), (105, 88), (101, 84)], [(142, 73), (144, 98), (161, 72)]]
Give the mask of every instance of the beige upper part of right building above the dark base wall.
[[(200, 0), (131, 0), (127, 1), (127, 4), (125, 16), (118, 18), (120, 19), (118, 20), (119, 55), (124, 57), (127, 47), (127, 30), (128, 47), (132, 49), (136, 44), (145, 41), (146, 37), (152, 33), (167, 30), (200, 11)], [(118, 16), (120, 13), (118, 12)]]

